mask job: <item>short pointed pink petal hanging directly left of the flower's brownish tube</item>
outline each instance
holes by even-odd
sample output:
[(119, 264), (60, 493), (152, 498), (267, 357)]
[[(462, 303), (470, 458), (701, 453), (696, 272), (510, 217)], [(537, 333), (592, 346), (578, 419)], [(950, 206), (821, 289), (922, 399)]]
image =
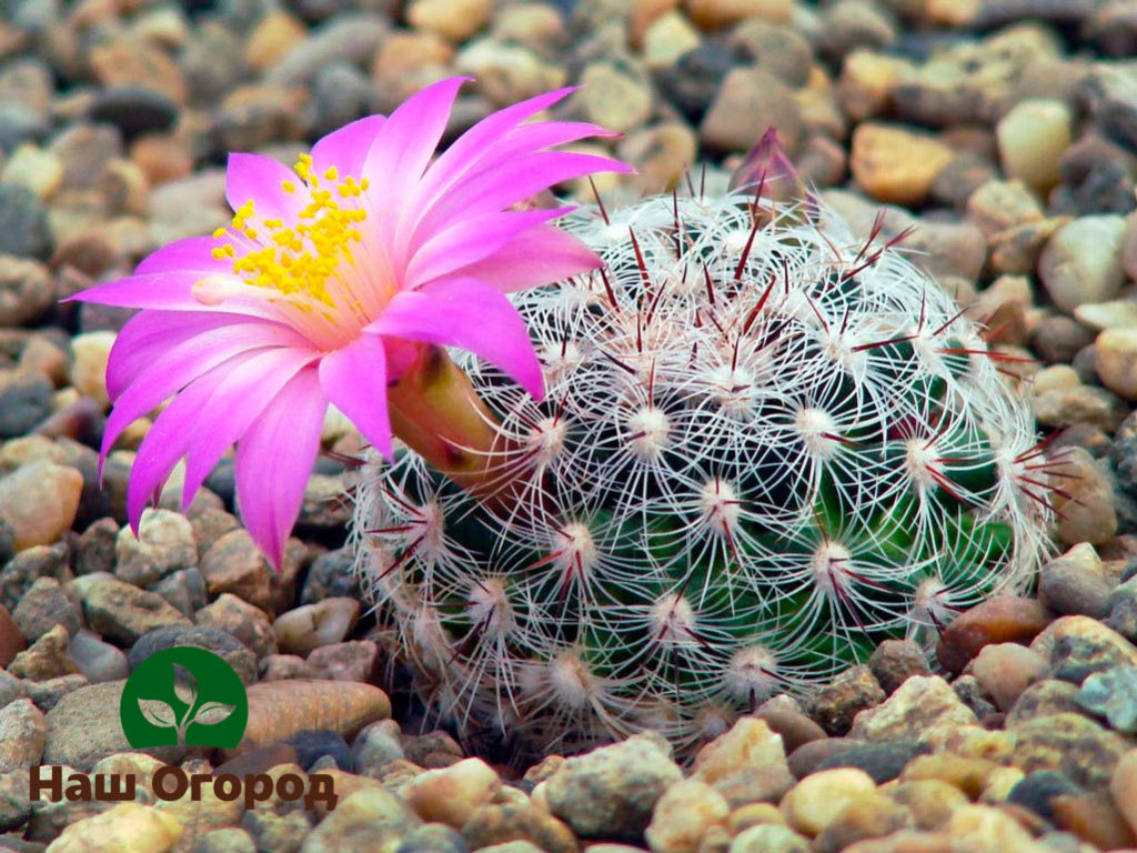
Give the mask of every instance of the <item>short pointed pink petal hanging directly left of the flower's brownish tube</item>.
[(343, 349), (329, 353), (319, 362), (319, 384), (364, 438), (391, 458), (383, 341), (362, 334)]

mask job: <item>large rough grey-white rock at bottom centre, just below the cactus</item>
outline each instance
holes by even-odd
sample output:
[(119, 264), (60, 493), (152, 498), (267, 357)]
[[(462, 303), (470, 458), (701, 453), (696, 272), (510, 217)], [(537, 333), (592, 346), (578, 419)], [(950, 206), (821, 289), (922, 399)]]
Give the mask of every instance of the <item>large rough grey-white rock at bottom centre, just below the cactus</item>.
[(661, 740), (646, 735), (568, 759), (546, 782), (551, 813), (587, 838), (636, 838), (663, 792), (682, 778)]

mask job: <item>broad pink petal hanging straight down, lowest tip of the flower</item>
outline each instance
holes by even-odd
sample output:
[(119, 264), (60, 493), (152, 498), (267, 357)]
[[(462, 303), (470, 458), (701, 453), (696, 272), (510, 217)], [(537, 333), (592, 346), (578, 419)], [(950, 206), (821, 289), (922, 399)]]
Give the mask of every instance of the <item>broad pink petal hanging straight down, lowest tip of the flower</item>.
[(327, 398), (315, 367), (296, 374), (236, 445), (236, 496), (249, 536), (280, 569), (319, 450)]

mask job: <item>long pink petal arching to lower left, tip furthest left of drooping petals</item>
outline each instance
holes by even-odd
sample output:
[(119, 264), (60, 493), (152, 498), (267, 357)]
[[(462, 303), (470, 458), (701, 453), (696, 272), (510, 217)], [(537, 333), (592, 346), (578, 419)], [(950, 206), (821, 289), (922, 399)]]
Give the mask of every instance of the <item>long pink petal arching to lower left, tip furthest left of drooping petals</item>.
[(291, 330), (269, 323), (230, 323), (201, 332), (157, 357), (115, 399), (102, 433), (100, 462), (126, 426), (198, 376), (241, 353), (306, 342)]

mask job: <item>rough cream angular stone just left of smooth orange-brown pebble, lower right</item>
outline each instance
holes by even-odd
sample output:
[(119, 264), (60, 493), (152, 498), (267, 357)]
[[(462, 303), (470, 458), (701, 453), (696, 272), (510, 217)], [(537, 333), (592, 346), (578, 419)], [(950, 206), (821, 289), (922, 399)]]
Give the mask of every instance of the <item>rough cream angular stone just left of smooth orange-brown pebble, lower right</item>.
[(914, 676), (883, 703), (858, 713), (849, 735), (865, 740), (915, 738), (936, 724), (976, 722), (947, 681), (939, 676)]

